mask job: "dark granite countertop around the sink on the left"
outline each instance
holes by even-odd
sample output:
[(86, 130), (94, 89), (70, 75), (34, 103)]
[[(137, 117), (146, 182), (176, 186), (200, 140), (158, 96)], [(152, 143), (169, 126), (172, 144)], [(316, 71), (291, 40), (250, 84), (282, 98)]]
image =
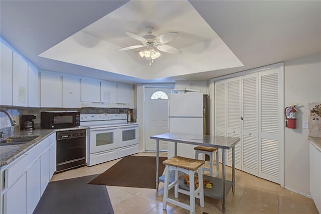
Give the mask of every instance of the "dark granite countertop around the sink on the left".
[(12, 161), (25, 154), (28, 150), (36, 146), (52, 133), (79, 129), (88, 129), (88, 127), (78, 126), (66, 129), (35, 129), (32, 131), (15, 130), (13, 135), (8, 137), (39, 137), (25, 144), (0, 146), (0, 167), (10, 164)]

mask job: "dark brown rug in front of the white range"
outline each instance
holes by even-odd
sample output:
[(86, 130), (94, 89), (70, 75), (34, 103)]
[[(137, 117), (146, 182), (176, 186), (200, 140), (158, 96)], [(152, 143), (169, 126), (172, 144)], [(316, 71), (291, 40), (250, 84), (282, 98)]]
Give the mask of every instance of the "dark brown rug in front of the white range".
[[(159, 157), (159, 176), (163, 174), (165, 169), (163, 161), (166, 159), (166, 157)], [(89, 183), (107, 186), (127, 186), (155, 189), (155, 180), (155, 157), (127, 156)]]

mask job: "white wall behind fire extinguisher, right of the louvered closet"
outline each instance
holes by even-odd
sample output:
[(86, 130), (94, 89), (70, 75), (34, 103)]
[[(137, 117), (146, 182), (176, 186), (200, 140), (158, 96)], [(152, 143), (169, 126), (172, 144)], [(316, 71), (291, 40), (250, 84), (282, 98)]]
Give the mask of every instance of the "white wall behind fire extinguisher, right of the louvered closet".
[(321, 101), (321, 54), (284, 62), (284, 106), (299, 103), (297, 128), (284, 131), (285, 188), (309, 195), (308, 102)]

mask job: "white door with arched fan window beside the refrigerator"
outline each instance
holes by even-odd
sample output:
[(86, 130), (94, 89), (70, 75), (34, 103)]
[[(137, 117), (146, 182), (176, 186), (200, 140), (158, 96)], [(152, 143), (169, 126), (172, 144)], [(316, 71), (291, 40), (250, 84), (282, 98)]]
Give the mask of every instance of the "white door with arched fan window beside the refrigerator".
[[(168, 133), (168, 95), (172, 88), (145, 87), (145, 151), (156, 151), (151, 135)], [(167, 142), (159, 142), (159, 150), (167, 151)]]

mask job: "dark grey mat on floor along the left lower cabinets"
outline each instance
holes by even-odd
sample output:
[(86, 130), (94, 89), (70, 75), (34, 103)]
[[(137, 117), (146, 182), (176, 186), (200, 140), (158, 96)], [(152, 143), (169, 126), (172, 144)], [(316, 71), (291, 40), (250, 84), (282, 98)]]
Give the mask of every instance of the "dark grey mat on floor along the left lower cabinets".
[(49, 182), (34, 214), (114, 214), (106, 187), (87, 184), (96, 176)]

